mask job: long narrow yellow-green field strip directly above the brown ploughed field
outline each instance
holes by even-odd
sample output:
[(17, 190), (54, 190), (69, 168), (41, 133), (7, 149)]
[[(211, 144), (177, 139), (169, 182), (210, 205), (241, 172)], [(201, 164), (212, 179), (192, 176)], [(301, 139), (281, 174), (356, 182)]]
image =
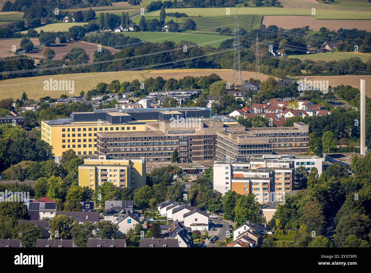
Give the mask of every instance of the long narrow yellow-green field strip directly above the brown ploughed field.
[[(188, 16), (234, 16), (235, 8), (230, 8), (230, 15), (226, 15), (226, 8), (185, 8), (166, 9), (166, 13), (183, 12)], [(152, 11), (151, 16), (160, 16), (160, 11)], [(282, 9), (279, 7), (240, 7), (239, 15), (300, 15), (313, 16), (315, 19), (342, 19), (342, 20), (371, 20), (371, 11), (346, 11), (346, 10), (316, 10), (312, 15), (311, 9)]]

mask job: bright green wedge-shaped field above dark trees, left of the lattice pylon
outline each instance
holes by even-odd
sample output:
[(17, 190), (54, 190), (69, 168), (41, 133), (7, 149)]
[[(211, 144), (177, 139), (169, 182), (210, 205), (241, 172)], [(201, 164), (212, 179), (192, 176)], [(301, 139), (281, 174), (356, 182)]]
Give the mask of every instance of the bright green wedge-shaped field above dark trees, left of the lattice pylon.
[(163, 41), (173, 41), (179, 43), (182, 40), (194, 42), (197, 44), (206, 43), (214, 47), (219, 47), (223, 40), (231, 39), (231, 36), (209, 35), (209, 34), (194, 34), (194, 33), (172, 33), (172, 32), (121, 32), (125, 36), (137, 37), (142, 41), (152, 43), (161, 43)]

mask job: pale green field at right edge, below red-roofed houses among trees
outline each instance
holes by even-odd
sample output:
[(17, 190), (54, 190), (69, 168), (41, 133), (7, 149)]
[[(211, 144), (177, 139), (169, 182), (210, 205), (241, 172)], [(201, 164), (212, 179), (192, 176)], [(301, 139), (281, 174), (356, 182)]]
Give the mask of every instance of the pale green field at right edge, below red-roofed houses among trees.
[(360, 52), (335, 52), (335, 53), (315, 53), (315, 54), (303, 54), (303, 55), (290, 55), (290, 59), (298, 58), (300, 60), (325, 60), (325, 61), (337, 61), (341, 59), (349, 59), (358, 57), (363, 62), (371, 59), (371, 53), (360, 53)]

